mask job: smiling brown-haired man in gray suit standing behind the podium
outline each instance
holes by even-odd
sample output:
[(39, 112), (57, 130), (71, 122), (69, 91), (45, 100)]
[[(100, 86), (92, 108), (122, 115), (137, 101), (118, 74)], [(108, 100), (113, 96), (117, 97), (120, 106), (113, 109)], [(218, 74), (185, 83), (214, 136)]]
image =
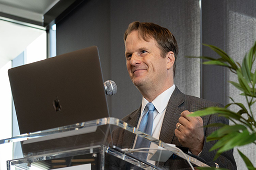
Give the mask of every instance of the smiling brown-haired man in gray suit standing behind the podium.
[[(166, 143), (189, 149), (210, 165), (236, 169), (232, 151), (219, 156), (213, 162), (215, 151), (208, 152), (215, 142), (206, 142), (206, 136), (216, 128), (202, 128), (210, 123), (226, 123), (224, 117), (215, 115), (188, 117), (188, 114), (206, 107), (222, 107), (221, 104), (184, 95), (173, 83), (178, 45), (166, 28), (154, 23), (133, 22), (124, 34), (126, 67), (133, 84), (143, 96), (141, 107), (123, 118), (123, 121), (140, 128), (144, 116), (149, 116), (148, 103), (153, 106), (153, 125), (150, 135)], [(149, 121), (147, 121), (148, 123)], [(146, 125), (149, 126), (149, 125)], [(119, 134), (115, 145), (136, 148), (137, 137)], [(135, 141), (135, 142), (134, 142)], [(168, 160), (156, 163), (170, 169), (185, 169), (184, 160)]]

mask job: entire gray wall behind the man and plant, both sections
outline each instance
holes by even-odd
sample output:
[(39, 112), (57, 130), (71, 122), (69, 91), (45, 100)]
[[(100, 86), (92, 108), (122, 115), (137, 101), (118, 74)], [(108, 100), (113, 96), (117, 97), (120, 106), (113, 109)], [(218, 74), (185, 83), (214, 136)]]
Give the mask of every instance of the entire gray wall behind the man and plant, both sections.
[[(111, 116), (122, 118), (141, 104), (142, 96), (126, 71), (123, 33), (132, 21), (154, 22), (177, 38), (180, 53), (174, 80), (185, 94), (227, 104), (228, 96), (245, 102), (227, 83), (234, 74), (221, 67), (201, 66), (184, 56), (218, 57), (201, 43), (215, 45), (236, 61), (256, 40), (255, 0), (87, 0), (57, 23), (57, 55), (97, 45), (104, 80), (118, 85), (118, 94), (108, 97)], [(236, 108), (232, 108), (236, 109)], [(255, 145), (240, 148), (256, 165)], [(238, 169), (246, 169), (235, 149)]]

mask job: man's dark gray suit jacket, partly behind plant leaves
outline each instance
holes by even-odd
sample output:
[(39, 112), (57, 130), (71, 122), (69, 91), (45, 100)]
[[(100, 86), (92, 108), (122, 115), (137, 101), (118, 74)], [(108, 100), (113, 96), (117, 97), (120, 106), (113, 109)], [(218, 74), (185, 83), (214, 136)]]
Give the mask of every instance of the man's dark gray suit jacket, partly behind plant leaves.
[[(197, 110), (202, 110), (207, 107), (223, 107), (223, 105), (205, 99), (184, 95), (176, 87), (168, 102), (159, 140), (164, 141), (166, 143), (172, 143), (176, 146), (181, 146), (181, 143), (174, 134), (176, 124), (179, 122), (178, 119), (180, 117), (180, 113), (184, 110), (194, 112)], [(125, 116), (122, 120), (134, 127), (137, 127), (140, 114), (141, 107), (132, 112), (131, 114)], [(226, 118), (219, 117), (216, 115), (203, 116), (202, 119), (204, 125), (211, 123), (228, 124), (228, 120)], [(206, 137), (210, 135), (216, 129), (217, 127), (204, 128), (204, 136)], [(114, 145), (119, 146), (121, 148), (132, 148), (135, 135), (128, 132), (124, 132), (123, 130), (117, 131), (118, 132), (115, 132), (115, 135), (113, 136)], [(219, 165), (219, 167), (236, 169), (236, 163), (232, 151), (227, 151), (223, 153), (222, 155), (219, 156), (219, 158), (216, 161), (213, 162), (213, 158), (215, 156), (216, 151), (209, 152), (209, 150), (214, 145), (214, 143), (216, 143), (216, 141), (206, 142), (205, 139), (203, 151), (200, 154), (200, 158), (202, 158), (205, 161), (205, 163), (210, 166), (215, 166), (214, 162), (216, 162)], [(165, 163), (157, 162), (156, 165), (168, 169), (188, 169), (189, 167), (188, 163), (184, 160), (168, 160)]]

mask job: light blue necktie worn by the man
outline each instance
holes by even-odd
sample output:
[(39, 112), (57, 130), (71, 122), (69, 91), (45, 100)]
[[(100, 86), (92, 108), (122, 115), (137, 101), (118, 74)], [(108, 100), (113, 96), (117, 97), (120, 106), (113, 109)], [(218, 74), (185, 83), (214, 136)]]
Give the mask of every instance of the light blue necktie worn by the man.
[[(145, 113), (143, 115), (138, 129), (151, 136), (152, 135), (152, 128), (153, 128), (155, 107), (154, 107), (154, 104), (150, 102), (150, 103), (147, 103), (146, 108), (147, 108), (148, 111), (147, 111), (147, 113)], [(150, 145), (150, 141), (138, 136), (134, 149), (149, 148), (149, 145)], [(148, 151), (148, 150), (143, 150), (143, 151)], [(145, 159), (145, 160), (147, 158), (147, 153), (135, 152), (134, 155), (137, 155), (140, 158)]]

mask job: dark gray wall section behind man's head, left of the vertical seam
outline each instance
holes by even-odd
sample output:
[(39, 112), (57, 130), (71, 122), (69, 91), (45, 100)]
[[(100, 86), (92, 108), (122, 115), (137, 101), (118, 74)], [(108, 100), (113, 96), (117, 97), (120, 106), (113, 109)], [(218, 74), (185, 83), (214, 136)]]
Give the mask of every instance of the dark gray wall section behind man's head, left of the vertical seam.
[(179, 43), (175, 84), (200, 97), (199, 1), (85, 1), (57, 23), (57, 55), (96, 45), (104, 81), (113, 80), (118, 94), (108, 97), (111, 116), (122, 118), (137, 109), (142, 96), (126, 71), (123, 34), (133, 21), (154, 22), (168, 28)]

